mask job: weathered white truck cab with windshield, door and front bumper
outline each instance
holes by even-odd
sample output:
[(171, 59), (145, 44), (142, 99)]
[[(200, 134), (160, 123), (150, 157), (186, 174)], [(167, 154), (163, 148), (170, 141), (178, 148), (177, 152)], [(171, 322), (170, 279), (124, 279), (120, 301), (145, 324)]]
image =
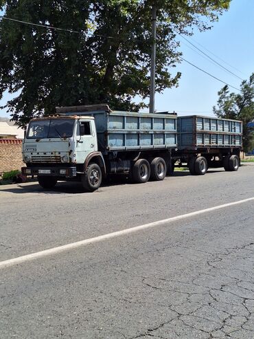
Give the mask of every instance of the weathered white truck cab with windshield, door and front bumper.
[[(91, 158), (104, 172), (93, 117), (47, 116), (32, 119), (28, 124), (23, 140), (23, 162), (27, 166), (22, 172), (38, 175), (38, 182), (44, 188), (53, 187), (61, 178), (80, 179)], [(102, 173), (93, 172), (96, 174), (97, 177), (100, 174), (101, 181)]]

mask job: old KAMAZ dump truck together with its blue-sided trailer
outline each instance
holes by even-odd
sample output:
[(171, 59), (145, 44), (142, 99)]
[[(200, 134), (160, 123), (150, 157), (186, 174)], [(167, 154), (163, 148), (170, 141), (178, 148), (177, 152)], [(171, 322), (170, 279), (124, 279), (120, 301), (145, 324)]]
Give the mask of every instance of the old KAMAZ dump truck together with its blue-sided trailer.
[(242, 123), (200, 117), (200, 125), (198, 117), (190, 118), (189, 125), (176, 113), (112, 111), (108, 105), (56, 107), (56, 113), (28, 124), (22, 173), (37, 175), (43, 188), (58, 180), (79, 181), (93, 192), (115, 174), (136, 183), (163, 180), (176, 162), (186, 162), (193, 175), (205, 174), (208, 166), (237, 171)]

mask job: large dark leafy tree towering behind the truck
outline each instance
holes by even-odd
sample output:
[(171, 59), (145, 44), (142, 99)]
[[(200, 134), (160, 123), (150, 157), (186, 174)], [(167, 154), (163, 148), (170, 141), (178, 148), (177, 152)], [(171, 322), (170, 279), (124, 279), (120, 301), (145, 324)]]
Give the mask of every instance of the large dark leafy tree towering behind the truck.
[[(176, 32), (211, 28), (230, 0), (157, 0), (156, 91), (178, 85)], [(106, 102), (140, 109), (150, 89), (151, 8), (154, 0), (0, 0), (0, 98), (19, 125), (56, 106)], [(67, 31), (72, 30), (72, 31)], [(75, 32), (73, 32), (75, 31)]]

